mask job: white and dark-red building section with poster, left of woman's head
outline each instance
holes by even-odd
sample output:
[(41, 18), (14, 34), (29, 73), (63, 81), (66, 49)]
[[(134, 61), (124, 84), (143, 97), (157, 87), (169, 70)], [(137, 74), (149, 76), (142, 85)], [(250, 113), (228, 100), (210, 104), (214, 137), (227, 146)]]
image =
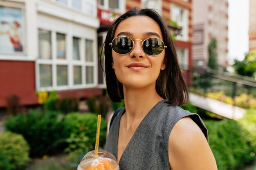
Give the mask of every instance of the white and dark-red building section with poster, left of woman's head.
[(96, 1), (1, 0), (0, 20), (0, 107), (38, 104), (40, 91), (101, 95)]

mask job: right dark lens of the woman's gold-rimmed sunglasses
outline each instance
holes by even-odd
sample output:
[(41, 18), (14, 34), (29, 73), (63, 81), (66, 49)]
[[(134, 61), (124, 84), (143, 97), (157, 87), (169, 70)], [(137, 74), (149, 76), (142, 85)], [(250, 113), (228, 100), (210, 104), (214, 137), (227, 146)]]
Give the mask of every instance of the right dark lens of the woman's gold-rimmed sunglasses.
[(143, 42), (142, 49), (148, 55), (159, 55), (164, 51), (164, 42), (158, 38), (148, 38)]

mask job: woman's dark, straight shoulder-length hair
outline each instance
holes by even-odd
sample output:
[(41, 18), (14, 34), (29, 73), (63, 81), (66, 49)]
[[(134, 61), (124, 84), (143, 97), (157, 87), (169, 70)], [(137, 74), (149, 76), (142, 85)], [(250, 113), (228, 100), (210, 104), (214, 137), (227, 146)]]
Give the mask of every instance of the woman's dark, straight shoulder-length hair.
[(132, 16), (148, 16), (155, 20), (155, 22), (160, 26), (164, 44), (167, 46), (164, 56), (166, 68), (165, 70), (160, 71), (156, 80), (155, 88), (157, 93), (162, 98), (168, 99), (168, 104), (170, 105), (176, 104), (180, 106), (186, 104), (189, 100), (189, 93), (180, 71), (174, 41), (171, 38), (170, 31), (168, 30), (163, 18), (157, 13), (157, 11), (148, 8), (141, 10), (131, 9), (130, 11), (127, 11), (117, 18), (108, 29), (104, 43), (104, 66), (107, 91), (110, 99), (112, 99), (113, 102), (120, 102), (121, 99), (124, 99), (124, 91), (123, 85), (118, 81), (115, 75), (115, 70), (112, 68), (112, 48), (108, 44), (114, 39), (115, 31), (119, 23)]

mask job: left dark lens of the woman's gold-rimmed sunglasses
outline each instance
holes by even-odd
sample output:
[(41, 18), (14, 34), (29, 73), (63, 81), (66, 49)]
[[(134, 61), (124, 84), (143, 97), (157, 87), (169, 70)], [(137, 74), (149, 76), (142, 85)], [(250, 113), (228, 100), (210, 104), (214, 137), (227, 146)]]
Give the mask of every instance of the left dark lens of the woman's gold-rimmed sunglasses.
[(132, 51), (133, 42), (128, 37), (117, 37), (112, 42), (112, 49), (119, 54), (127, 54)]

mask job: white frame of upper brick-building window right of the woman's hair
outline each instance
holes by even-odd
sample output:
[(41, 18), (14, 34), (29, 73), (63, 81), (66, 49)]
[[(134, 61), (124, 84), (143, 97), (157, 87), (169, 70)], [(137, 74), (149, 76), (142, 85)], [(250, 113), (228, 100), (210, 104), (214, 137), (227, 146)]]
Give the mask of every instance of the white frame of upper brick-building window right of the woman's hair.
[[(179, 22), (174, 18), (175, 8), (178, 8), (179, 10), (183, 10), (184, 15), (182, 16), (182, 22)], [(177, 35), (176, 39), (182, 40), (182, 41), (188, 41), (189, 40), (189, 11), (188, 11), (188, 9), (177, 6), (176, 4), (171, 4), (171, 20), (177, 22), (178, 26), (182, 27), (182, 31), (181, 31), (182, 35)]]

